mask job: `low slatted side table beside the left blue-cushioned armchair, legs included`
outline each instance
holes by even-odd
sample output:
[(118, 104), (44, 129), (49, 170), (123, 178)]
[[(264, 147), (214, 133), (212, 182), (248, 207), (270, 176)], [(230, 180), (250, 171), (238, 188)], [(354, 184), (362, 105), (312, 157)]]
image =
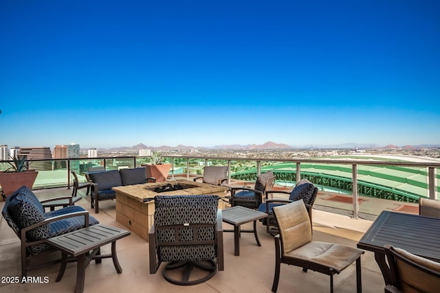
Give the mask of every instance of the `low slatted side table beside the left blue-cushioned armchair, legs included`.
[[(120, 274), (122, 268), (116, 256), (116, 240), (130, 235), (130, 231), (112, 226), (96, 224), (87, 228), (82, 228), (71, 233), (47, 239), (47, 243), (58, 248), (63, 253), (60, 272), (56, 277), (56, 282), (61, 281), (67, 264), (67, 256), (76, 257), (76, 286), (75, 292), (80, 293), (84, 290), (85, 268), (91, 259), (96, 259), (100, 263), (101, 259), (111, 257), (116, 272)], [(100, 247), (111, 243), (111, 254), (101, 255)]]

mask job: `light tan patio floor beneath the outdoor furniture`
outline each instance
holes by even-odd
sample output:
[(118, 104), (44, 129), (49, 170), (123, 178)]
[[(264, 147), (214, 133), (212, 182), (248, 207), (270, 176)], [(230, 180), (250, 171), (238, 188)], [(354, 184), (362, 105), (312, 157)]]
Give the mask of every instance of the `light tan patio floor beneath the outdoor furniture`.
[[(72, 189), (58, 188), (35, 191), (39, 198), (51, 198), (71, 194)], [(90, 211), (102, 224), (124, 228), (115, 221), (115, 201), (100, 202), (100, 213), (90, 209), (89, 197), (80, 189), (83, 197), (77, 205)], [(0, 202), (3, 209), (4, 202)], [(371, 225), (368, 220), (353, 220), (344, 215), (314, 210), (314, 239), (335, 242), (355, 247), (360, 237)], [(249, 225), (249, 226), (248, 226)], [(252, 227), (252, 223), (243, 227)], [(223, 223), (223, 228), (231, 228)], [(156, 274), (149, 274), (148, 242), (135, 234), (118, 240), (118, 259), (122, 274), (115, 271), (110, 259), (96, 264), (91, 261), (86, 270), (84, 292), (271, 292), (274, 278), (274, 239), (265, 233), (265, 226), (258, 223), (259, 238), (262, 246), (256, 246), (254, 236), (244, 233), (241, 236), (240, 256), (234, 256), (233, 233), (223, 234), (225, 270), (205, 283), (193, 286), (177, 286), (168, 283), (162, 277), (164, 263)], [(63, 279), (56, 283), (59, 264), (31, 270), (31, 276), (48, 277), (47, 283), (8, 283), (4, 277), (20, 277), (20, 243), (18, 237), (0, 218), (0, 292), (74, 292), (76, 263), (68, 263)], [(102, 248), (102, 253), (109, 253), (110, 245)], [(325, 274), (302, 268), (281, 266), (278, 292), (329, 292), (330, 281)], [(334, 277), (335, 292), (355, 292), (355, 264)], [(374, 260), (373, 253), (366, 251), (362, 255), (362, 290), (363, 292), (383, 292), (384, 280)]]

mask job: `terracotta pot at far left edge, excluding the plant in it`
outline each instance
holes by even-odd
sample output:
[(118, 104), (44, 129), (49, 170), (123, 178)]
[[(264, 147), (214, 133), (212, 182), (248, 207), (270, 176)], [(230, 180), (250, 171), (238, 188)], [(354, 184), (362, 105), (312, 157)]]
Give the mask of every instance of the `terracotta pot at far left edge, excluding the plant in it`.
[(38, 174), (39, 172), (34, 170), (19, 173), (0, 172), (1, 190), (8, 197), (23, 185), (32, 189)]

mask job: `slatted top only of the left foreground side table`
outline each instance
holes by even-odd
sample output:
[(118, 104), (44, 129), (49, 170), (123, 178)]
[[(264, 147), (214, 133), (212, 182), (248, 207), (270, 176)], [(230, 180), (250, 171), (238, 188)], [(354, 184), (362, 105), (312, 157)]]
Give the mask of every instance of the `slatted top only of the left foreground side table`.
[(114, 242), (130, 235), (130, 231), (120, 228), (96, 224), (77, 231), (47, 239), (47, 242), (69, 255), (77, 257), (94, 248)]

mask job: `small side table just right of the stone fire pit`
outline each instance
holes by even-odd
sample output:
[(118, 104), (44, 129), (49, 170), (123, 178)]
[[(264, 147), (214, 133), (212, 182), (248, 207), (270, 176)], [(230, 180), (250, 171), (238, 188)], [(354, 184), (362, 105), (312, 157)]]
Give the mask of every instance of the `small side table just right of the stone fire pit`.
[[(223, 222), (234, 226), (234, 230), (223, 230), (223, 232), (234, 232), (234, 255), (240, 255), (240, 233), (254, 233), (256, 244), (261, 246), (259, 235), (256, 234), (256, 220), (267, 217), (267, 213), (248, 209), (247, 207), (235, 206), (224, 209)], [(241, 230), (240, 226), (245, 223), (254, 222), (254, 230)]]

